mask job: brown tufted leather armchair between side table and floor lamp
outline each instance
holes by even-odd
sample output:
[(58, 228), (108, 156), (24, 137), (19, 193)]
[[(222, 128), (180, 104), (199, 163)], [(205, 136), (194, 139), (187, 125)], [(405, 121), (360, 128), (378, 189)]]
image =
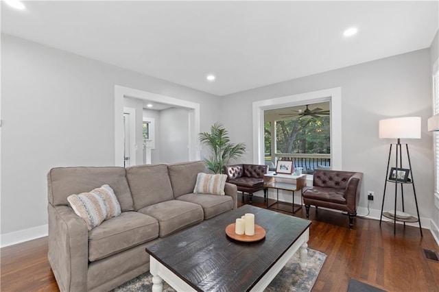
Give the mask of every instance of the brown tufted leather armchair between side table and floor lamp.
[(303, 202), (309, 217), (309, 207), (331, 208), (348, 212), (349, 228), (357, 215), (357, 204), (363, 173), (316, 169), (313, 187), (303, 192)]

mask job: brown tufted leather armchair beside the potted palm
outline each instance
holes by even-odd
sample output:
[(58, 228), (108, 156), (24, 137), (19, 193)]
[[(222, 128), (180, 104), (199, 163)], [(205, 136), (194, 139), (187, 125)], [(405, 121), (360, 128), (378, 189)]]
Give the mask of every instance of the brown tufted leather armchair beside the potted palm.
[(252, 204), (253, 193), (263, 190), (263, 197), (267, 195), (267, 189), (263, 187), (263, 175), (267, 173), (267, 165), (225, 165), (224, 173), (227, 175), (227, 182), (236, 184), (238, 191), (248, 193), (250, 204)]

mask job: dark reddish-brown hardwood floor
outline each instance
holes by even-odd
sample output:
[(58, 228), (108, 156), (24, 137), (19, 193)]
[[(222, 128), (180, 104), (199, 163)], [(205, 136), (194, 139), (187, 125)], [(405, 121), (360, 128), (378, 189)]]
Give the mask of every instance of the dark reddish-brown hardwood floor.
[[(242, 200), (241, 194), (238, 194)], [(239, 202), (239, 206), (243, 203)], [(253, 205), (265, 208), (263, 198)], [(305, 207), (294, 216), (305, 218)], [(386, 291), (439, 291), (439, 263), (422, 249), (438, 251), (429, 230), (357, 218), (354, 229), (341, 213), (311, 208), (309, 248), (327, 254), (313, 291), (346, 291), (355, 278)], [(47, 260), (47, 237), (1, 250), (1, 291), (58, 291)]]

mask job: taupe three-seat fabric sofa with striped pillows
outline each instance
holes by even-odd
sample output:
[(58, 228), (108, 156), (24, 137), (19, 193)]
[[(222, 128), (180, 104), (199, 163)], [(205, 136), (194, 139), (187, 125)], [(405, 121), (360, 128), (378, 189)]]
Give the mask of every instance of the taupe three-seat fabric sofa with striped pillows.
[[(61, 291), (108, 291), (150, 269), (145, 246), (237, 208), (237, 186), (226, 195), (195, 194), (203, 161), (129, 167), (58, 167), (47, 174), (49, 263)], [(121, 215), (91, 231), (67, 202), (103, 184)]]

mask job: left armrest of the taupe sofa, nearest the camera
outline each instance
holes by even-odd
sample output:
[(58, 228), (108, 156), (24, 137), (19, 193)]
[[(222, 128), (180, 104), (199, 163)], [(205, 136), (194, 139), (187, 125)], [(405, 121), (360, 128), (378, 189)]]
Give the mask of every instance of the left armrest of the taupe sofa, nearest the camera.
[(86, 291), (88, 230), (69, 206), (47, 207), (49, 216), (49, 263), (60, 291)]

